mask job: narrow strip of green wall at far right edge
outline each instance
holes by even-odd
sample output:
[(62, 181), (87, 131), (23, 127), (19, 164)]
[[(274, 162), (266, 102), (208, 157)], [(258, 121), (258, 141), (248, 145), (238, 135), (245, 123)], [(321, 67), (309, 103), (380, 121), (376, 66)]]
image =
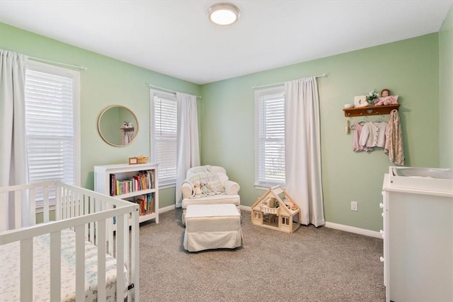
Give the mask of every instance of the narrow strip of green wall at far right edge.
[(440, 166), (453, 169), (453, 6), (439, 32)]

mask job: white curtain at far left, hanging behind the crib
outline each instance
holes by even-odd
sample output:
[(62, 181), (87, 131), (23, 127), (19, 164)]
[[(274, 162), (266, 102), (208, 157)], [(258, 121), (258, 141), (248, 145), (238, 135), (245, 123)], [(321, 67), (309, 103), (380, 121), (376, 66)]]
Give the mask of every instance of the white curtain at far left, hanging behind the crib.
[[(28, 182), (25, 148), (25, 64), (23, 54), (0, 50), (0, 187)], [(27, 203), (27, 204), (25, 204)], [(12, 228), (14, 204), (0, 204), (0, 229)], [(22, 207), (28, 209), (23, 197)], [(28, 226), (28, 211), (22, 211), (22, 226)]]

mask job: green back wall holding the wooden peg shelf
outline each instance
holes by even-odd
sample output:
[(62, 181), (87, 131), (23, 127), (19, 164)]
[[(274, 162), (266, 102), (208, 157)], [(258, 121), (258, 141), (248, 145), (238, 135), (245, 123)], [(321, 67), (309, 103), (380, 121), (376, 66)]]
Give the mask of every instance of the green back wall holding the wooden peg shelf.
[[(406, 165), (437, 167), (437, 36), (424, 35), (202, 86), (202, 163), (224, 166), (230, 179), (241, 185), (241, 204), (251, 206), (263, 194), (253, 187), (255, 107), (251, 87), (326, 74), (318, 80), (326, 221), (379, 231), (382, 180), (392, 164), (379, 148), (371, 153), (352, 152), (343, 105), (374, 88), (390, 88), (401, 104)], [(350, 211), (352, 200), (358, 202), (358, 211)]]

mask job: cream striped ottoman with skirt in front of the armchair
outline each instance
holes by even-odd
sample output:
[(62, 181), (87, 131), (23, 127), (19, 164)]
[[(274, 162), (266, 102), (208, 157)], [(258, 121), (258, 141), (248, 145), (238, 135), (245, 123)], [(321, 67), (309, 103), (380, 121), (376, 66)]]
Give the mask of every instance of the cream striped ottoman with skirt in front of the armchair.
[(242, 245), (241, 214), (234, 204), (191, 204), (185, 213), (184, 248), (189, 252)]

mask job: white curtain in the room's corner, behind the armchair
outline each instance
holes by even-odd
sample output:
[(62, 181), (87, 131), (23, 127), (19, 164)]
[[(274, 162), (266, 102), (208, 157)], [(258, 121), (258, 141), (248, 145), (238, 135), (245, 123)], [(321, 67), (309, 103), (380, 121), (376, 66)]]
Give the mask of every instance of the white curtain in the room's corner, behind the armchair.
[(200, 165), (197, 97), (176, 93), (178, 100), (178, 164), (176, 165), (176, 207), (182, 206), (181, 185), (187, 171)]

